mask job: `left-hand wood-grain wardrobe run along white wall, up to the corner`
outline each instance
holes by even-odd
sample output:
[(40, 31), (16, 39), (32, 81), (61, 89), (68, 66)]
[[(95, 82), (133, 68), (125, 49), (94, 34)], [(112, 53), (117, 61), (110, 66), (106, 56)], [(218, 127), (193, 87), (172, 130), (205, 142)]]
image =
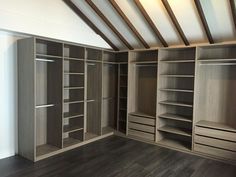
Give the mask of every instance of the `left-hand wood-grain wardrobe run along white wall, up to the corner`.
[(127, 62), (128, 52), (19, 40), (19, 154), (38, 161), (125, 133)]

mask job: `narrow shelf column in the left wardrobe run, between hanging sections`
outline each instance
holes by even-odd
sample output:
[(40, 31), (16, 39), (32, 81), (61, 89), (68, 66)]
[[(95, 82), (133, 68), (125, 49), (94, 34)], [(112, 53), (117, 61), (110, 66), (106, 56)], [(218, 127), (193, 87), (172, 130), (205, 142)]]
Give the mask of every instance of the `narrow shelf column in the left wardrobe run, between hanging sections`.
[(85, 48), (64, 44), (63, 147), (84, 140)]

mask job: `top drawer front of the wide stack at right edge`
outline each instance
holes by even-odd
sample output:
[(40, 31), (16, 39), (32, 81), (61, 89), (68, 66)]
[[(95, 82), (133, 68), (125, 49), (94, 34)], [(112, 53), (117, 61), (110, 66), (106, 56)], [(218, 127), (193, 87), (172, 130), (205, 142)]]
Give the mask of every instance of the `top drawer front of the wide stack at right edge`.
[(233, 132), (196, 126), (195, 134), (236, 142), (236, 133)]

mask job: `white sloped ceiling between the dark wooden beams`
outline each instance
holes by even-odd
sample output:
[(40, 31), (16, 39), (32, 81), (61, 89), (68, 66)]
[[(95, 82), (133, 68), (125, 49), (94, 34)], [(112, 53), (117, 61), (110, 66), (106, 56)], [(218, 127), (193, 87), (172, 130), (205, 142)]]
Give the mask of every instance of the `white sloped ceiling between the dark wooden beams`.
[[(86, 3), (85, 0), (72, 2), (117, 46), (127, 47)], [(106, 18), (124, 36), (133, 48), (144, 48), (124, 20), (114, 10), (108, 0), (92, 0)], [(150, 47), (162, 46), (149, 24), (137, 8), (134, 0), (115, 0), (133, 26)], [(160, 31), (169, 46), (184, 45), (161, 0), (140, 0), (142, 6)], [(194, 0), (168, 0), (190, 45), (208, 43), (207, 35), (197, 12)], [(236, 31), (229, 0), (200, 0), (210, 32), (215, 43), (234, 41)]]

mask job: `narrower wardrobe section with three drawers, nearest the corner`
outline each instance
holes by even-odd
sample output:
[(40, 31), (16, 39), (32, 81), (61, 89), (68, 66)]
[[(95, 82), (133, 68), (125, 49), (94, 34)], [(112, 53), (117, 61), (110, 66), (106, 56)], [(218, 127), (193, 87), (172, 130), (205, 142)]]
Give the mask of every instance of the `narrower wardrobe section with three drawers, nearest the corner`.
[(128, 135), (154, 141), (157, 50), (129, 53)]

